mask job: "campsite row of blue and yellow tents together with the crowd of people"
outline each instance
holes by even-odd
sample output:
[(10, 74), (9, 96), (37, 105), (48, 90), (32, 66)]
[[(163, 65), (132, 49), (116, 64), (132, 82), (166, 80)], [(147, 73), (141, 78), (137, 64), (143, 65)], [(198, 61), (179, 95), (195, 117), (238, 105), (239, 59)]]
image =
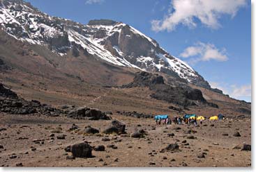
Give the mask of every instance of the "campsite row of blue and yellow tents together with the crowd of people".
[[(156, 125), (171, 125), (174, 124), (186, 124), (188, 126), (194, 124), (197, 126), (197, 121), (199, 121), (200, 124), (203, 123), (203, 121), (206, 119), (205, 117), (199, 116), (197, 117), (195, 114), (185, 114), (183, 117), (172, 117), (170, 118), (167, 114), (164, 115), (156, 115), (154, 117), (156, 121)], [(209, 120), (223, 120), (224, 116), (223, 114), (218, 114), (218, 116), (210, 117)]]

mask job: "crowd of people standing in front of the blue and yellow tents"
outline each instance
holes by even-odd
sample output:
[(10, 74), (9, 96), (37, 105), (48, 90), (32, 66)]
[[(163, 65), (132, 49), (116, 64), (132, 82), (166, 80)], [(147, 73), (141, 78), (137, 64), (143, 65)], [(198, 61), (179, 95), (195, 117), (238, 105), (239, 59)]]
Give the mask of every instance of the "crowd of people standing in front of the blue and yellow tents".
[[(203, 123), (203, 119), (199, 119), (200, 124)], [(167, 117), (166, 119), (156, 119), (156, 125), (170, 125), (172, 123), (174, 124), (187, 124), (188, 126), (194, 124), (197, 126), (197, 119), (196, 118), (183, 118), (183, 117), (173, 117), (170, 119)]]

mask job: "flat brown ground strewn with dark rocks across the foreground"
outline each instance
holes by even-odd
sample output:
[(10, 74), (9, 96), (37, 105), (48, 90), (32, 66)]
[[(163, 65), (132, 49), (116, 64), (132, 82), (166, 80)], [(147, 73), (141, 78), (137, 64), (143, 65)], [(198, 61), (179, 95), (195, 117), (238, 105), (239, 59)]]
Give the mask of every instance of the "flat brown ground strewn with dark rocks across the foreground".
[[(95, 121), (1, 113), (0, 165), (251, 166), (250, 119), (156, 126), (151, 118), (109, 116)], [(126, 130), (106, 134), (114, 119)], [(73, 145), (85, 141), (89, 146), (80, 152), (89, 157), (73, 156)]]

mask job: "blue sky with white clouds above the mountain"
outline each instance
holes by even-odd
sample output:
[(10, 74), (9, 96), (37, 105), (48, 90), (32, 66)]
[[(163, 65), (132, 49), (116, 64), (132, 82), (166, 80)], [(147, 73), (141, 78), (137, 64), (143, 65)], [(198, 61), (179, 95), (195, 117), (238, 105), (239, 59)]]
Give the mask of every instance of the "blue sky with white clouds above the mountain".
[(113, 19), (155, 39), (212, 87), (251, 101), (251, 6), (246, 0), (26, 0), (49, 15), (87, 24)]

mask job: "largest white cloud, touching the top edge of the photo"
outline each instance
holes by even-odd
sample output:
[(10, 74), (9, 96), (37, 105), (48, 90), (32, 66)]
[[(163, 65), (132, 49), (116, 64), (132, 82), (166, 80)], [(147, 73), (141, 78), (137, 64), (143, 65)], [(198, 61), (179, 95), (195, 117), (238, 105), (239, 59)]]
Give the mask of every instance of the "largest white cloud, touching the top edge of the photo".
[(234, 17), (246, 4), (246, 0), (172, 0), (169, 14), (161, 20), (151, 21), (151, 28), (153, 31), (174, 31), (179, 24), (195, 28), (195, 19), (209, 28), (219, 28), (218, 19), (222, 15)]

